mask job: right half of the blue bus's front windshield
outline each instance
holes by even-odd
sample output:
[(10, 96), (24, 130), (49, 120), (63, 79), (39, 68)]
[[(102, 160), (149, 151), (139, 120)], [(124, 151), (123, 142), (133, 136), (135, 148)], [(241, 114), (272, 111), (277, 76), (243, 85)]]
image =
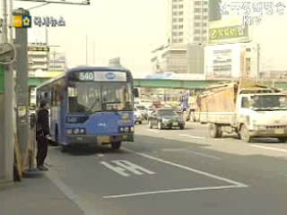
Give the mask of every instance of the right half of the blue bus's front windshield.
[(103, 110), (132, 110), (132, 87), (126, 82), (101, 85)]

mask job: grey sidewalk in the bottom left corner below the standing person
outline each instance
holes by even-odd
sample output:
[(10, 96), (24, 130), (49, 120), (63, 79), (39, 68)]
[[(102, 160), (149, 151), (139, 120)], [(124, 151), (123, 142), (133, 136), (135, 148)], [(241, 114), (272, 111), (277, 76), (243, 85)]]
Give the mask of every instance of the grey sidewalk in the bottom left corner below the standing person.
[(0, 184), (1, 215), (83, 215), (45, 176), (24, 178), (12, 185)]

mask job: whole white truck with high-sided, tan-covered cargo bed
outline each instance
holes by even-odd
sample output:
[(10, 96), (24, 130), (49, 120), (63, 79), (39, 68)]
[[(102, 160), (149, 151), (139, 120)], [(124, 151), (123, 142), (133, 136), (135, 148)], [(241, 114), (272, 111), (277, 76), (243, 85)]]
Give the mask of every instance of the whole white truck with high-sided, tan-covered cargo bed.
[(287, 97), (255, 83), (230, 82), (207, 90), (196, 99), (196, 121), (209, 124), (213, 138), (238, 133), (244, 142), (254, 137), (287, 141)]

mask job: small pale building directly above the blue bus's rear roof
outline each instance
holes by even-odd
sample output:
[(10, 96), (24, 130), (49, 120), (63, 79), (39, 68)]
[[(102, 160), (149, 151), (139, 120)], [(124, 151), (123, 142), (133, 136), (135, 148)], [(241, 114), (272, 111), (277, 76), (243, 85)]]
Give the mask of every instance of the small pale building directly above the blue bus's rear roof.
[(61, 52), (53, 51), (49, 56), (49, 71), (51, 72), (65, 72), (66, 70), (66, 60), (65, 54)]

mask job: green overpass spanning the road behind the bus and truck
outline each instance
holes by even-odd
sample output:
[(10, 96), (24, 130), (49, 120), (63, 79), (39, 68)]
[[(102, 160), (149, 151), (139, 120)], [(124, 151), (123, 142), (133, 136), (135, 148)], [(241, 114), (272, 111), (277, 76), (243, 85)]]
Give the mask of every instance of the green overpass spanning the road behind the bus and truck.
[[(37, 87), (43, 82), (47, 82), (50, 77), (30, 77), (29, 86)], [(164, 79), (135, 79), (134, 86), (138, 88), (166, 88), (166, 89), (186, 89), (204, 90), (211, 85), (229, 82), (227, 80), (164, 80)], [(271, 82), (260, 82), (270, 85)], [(274, 87), (287, 90), (287, 81), (274, 82)]]

